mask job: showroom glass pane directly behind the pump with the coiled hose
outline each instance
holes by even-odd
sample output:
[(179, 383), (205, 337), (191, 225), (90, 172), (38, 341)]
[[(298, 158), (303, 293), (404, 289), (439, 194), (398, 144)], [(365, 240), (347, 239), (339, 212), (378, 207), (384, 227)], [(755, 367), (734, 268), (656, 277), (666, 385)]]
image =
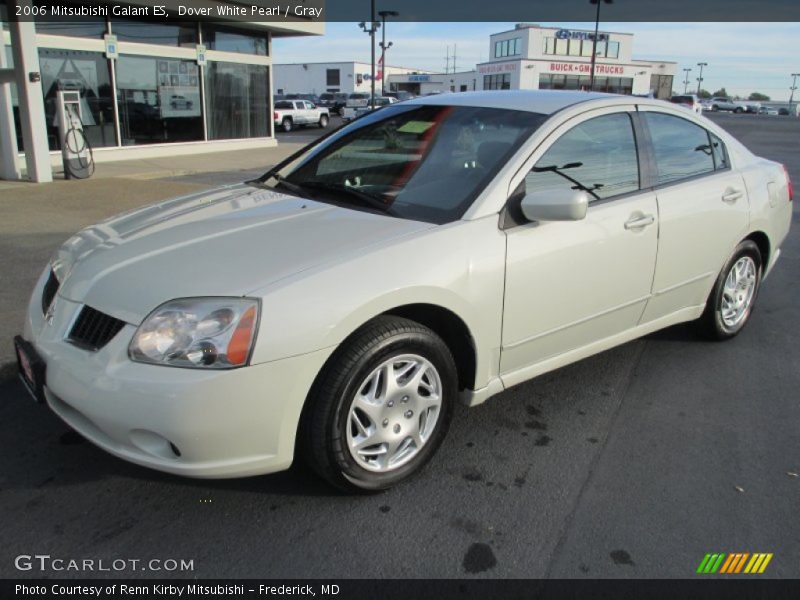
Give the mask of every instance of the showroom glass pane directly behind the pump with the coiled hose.
[(95, 147), (115, 146), (114, 106), (108, 60), (101, 52), (39, 49), (42, 93), (51, 150), (59, 150), (56, 101), (59, 90), (79, 91), (81, 120), (89, 143)]

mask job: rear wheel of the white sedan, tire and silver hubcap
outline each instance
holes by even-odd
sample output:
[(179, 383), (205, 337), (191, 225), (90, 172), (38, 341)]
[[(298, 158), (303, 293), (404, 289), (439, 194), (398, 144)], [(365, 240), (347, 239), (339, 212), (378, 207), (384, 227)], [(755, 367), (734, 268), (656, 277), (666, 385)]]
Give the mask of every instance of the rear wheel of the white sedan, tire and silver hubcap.
[(763, 259), (755, 242), (745, 240), (720, 271), (698, 320), (700, 333), (714, 340), (737, 335), (753, 312), (761, 286)]

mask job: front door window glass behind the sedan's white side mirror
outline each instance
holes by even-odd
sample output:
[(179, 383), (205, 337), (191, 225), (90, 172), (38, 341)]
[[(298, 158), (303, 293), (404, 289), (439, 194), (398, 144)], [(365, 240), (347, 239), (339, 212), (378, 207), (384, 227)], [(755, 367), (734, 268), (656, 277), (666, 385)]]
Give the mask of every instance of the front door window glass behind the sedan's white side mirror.
[(563, 134), (525, 177), (525, 191), (584, 190), (589, 201), (639, 189), (639, 161), (627, 113), (596, 117)]

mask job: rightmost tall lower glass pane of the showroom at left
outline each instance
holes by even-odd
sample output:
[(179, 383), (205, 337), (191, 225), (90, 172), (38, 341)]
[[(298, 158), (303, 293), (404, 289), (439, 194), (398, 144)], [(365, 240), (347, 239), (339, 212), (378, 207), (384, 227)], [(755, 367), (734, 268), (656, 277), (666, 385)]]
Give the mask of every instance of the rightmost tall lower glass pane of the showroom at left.
[(270, 135), (267, 66), (211, 61), (205, 82), (208, 139)]

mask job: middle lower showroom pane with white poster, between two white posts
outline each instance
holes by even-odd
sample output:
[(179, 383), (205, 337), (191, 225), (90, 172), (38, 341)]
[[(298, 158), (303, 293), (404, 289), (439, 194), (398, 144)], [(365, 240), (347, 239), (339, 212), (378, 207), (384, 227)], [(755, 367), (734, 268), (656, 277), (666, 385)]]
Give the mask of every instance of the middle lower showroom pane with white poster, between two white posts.
[(194, 61), (120, 56), (117, 106), (123, 146), (203, 139), (200, 74)]

